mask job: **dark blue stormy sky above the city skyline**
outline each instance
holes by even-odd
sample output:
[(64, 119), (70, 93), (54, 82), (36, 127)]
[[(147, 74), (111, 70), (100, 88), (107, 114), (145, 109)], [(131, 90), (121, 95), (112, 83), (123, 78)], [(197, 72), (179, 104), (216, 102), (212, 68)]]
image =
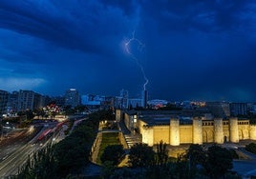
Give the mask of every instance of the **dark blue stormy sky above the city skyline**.
[[(154, 2), (154, 3), (153, 3)], [(256, 101), (256, 3), (1, 0), (0, 89)]]

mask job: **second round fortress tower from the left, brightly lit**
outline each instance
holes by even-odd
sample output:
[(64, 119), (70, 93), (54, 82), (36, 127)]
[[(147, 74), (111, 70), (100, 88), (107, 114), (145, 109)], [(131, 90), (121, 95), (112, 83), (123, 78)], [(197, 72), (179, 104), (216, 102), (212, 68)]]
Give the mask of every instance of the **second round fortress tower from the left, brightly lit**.
[(170, 120), (170, 145), (180, 146), (180, 120), (178, 118)]

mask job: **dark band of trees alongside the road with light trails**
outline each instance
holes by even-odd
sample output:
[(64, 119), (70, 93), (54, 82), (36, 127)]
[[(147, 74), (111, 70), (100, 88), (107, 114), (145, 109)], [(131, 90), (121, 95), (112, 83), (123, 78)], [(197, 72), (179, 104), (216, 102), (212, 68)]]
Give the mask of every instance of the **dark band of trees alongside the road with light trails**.
[(67, 178), (82, 172), (89, 163), (98, 123), (113, 117), (108, 110), (89, 115), (75, 130), (59, 143), (33, 153), (19, 169), (18, 179)]

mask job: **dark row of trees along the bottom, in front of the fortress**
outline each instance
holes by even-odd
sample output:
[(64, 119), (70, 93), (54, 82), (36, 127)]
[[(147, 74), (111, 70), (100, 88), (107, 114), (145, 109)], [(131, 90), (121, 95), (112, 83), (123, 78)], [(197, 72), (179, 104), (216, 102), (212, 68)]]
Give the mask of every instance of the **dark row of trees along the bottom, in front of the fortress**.
[[(123, 151), (115, 147), (106, 149), (101, 160), (104, 162), (103, 178), (240, 178), (230, 169), (233, 168), (233, 152), (213, 145), (203, 149), (200, 145), (191, 145), (178, 158), (168, 157), (167, 145), (160, 142), (156, 151), (146, 144), (137, 144), (129, 152), (129, 168), (117, 168), (117, 156)], [(115, 151), (115, 152), (114, 152)], [(116, 153), (116, 154), (114, 154)], [(106, 157), (108, 156), (108, 161)], [(114, 157), (116, 156), (116, 157)]]

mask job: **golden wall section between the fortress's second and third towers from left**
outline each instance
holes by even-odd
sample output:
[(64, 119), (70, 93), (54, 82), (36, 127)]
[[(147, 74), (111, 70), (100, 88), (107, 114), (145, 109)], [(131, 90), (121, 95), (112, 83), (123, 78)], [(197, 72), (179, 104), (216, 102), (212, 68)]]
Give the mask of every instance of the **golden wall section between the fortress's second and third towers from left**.
[(193, 141), (193, 128), (191, 125), (180, 126), (180, 142), (181, 144), (191, 144)]

